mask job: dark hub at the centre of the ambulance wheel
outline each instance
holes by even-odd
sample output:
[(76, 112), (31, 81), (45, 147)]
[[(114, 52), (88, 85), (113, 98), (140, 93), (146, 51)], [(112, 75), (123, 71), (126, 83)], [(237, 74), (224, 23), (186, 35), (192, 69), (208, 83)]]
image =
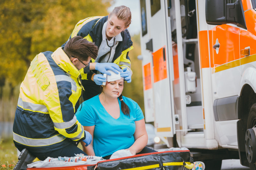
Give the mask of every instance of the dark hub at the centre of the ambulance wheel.
[(256, 161), (256, 137), (253, 129), (247, 129), (245, 133), (245, 151), (249, 163)]

